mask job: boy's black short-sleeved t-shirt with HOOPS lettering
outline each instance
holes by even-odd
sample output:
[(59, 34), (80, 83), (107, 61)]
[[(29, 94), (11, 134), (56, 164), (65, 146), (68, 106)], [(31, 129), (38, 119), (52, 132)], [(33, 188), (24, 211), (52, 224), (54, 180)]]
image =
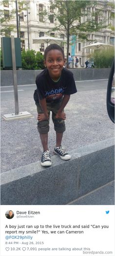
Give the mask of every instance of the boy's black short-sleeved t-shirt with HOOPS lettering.
[(65, 68), (62, 69), (61, 76), (54, 82), (49, 76), (47, 68), (36, 77), (37, 89), (34, 93), (34, 100), (37, 103), (46, 98), (47, 102), (56, 101), (64, 94), (70, 95), (77, 92), (73, 73)]

